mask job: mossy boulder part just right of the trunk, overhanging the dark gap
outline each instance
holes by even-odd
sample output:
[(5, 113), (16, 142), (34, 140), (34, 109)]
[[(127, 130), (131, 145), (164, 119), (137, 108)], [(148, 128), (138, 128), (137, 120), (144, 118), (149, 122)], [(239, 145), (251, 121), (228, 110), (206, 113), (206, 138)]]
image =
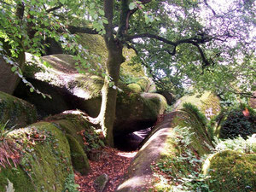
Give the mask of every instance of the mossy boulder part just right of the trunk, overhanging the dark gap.
[(156, 93), (119, 93), (117, 98), (114, 135), (146, 129), (154, 124), (166, 109), (166, 99)]

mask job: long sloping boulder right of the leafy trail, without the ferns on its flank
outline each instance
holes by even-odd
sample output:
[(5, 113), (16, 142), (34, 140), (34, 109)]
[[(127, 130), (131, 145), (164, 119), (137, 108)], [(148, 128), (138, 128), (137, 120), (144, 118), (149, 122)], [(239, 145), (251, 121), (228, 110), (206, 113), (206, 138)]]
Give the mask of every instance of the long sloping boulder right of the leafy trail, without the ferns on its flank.
[[(177, 132), (183, 129), (188, 131), (191, 143), (189, 146), (177, 148), (177, 138), (181, 137)], [(161, 158), (177, 161), (180, 151), (190, 149), (197, 155), (210, 152), (208, 146), (212, 143), (207, 137), (207, 131), (198, 123), (198, 119), (185, 111), (177, 111), (164, 115), (155, 125), (153, 132), (147, 142), (139, 150), (131, 162), (128, 172), (125, 174), (124, 182), (117, 189), (119, 192), (148, 191), (153, 183), (152, 165), (156, 165)], [(172, 169), (179, 169), (179, 163), (173, 164)], [(188, 165), (187, 165), (188, 164)], [(177, 167), (176, 167), (177, 166)], [(183, 170), (189, 167), (188, 162), (183, 162)], [(177, 172), (173, 172), (176, 177)], [(172, 188), (172, 186), (170, 186)]]

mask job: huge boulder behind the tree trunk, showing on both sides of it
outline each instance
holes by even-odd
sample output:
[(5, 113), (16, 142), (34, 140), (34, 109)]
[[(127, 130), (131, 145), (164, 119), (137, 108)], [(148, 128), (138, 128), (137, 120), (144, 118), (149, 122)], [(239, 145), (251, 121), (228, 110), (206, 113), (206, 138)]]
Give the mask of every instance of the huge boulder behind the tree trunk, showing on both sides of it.
[[(19, 85), (15, 95), (34, 103), (42, 115), (78, 108), (96, 117), (101, 108), (103, 79), (88, 72), (78, 73), (76, 61), (71, 55), (48, 55), (42, 59), (48, 61), (51, 67), (45, 67), (44, 61), (31, 60), (25, 74), (29, 81), (51, 95), (52, 99), (31, 93), (24, 84)], [(162, 96), (141, 96), (121, 82), (119, 87), (122, 91), (119, 91), (117, 99), (115, 134), (148, 128), (163, 113), (166, 101)]]

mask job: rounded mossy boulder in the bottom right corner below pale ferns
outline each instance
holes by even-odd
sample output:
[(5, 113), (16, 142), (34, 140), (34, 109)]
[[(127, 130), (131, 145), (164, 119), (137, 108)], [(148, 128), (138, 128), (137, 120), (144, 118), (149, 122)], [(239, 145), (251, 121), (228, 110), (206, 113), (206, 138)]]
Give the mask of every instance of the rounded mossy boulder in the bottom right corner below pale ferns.
[(210, 189), (222, 191), (256, 190), (256, 154), (242, 154), (225, 150), (213, 154), (204, 165)]

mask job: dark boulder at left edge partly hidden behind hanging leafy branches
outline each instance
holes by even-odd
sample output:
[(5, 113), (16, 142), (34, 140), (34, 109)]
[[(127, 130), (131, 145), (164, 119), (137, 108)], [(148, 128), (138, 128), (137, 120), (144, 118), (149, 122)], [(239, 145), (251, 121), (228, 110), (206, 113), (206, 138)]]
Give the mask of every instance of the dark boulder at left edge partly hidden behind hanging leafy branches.
[[(10, 55), (9, 44), (7, 42), (4, 42), (3, 38), (0, 38), (0, 43), (3, 44), (3, 49), (5, 49), (7, 51), (7, 54)], [(20, 53), (15, 61), (22, 70), (25, 65), (25, 53)], [(3, 59), (3, 56), (0, 56), (0, 91), (3, 91), (10, 95), (13, 94), (16, 86), (20, 82), (19, 76), (12, 72), (11, 67), (12, 66)]]

